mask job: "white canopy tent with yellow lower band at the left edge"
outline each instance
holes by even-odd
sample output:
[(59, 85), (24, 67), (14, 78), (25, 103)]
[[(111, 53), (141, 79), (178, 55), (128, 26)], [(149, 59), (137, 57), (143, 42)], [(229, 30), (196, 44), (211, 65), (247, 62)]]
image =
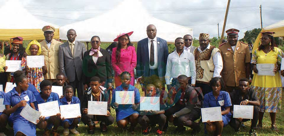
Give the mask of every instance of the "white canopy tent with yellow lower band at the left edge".
[(0, 8), (0, 40), (21, 36), (24, 40), (44, 39), (43, 31), (45, 25), (52, 25), (56, 29), (54, 38), (59, 38), (59, 27), (57, 25), (37, 19), (26, 10), (19, 0), (9, 0)]

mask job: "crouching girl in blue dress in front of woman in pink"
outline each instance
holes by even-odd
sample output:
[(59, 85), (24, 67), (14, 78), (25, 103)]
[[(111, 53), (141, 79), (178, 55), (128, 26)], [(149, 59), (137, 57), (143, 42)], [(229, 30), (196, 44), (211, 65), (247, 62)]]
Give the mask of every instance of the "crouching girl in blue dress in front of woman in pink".
[(130, 132), (134, 132), (134, 128), (137, 125), (138, 121), (138, 112), (134, 111), (132, 109), (132, 104), (118, 104), (116, 102), (115, 98), (115, 92), (116, 91), (134, 91), (134, 103), (139, 104), (140, 103), (140, 93), (137, 88), (130, 85), (131, 82), (131, 76), (129, 72), (122, 72), (120, 74), (120, 81), (122, 82), (122, 85), (118, 86), (113, 90), (112, 92), (112, 108), (115, 109), (116, 112), (116, 121), (117, 126), (126, 129), (128, 123), (130, 122)]

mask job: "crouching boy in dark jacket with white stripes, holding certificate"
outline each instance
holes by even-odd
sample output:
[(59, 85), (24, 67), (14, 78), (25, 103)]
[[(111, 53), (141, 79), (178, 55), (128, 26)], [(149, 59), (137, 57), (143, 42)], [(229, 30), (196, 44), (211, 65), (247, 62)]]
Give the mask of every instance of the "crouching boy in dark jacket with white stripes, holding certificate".
[(106, 126), (111, 125), (114, 122), (114, 118), (110, 115), (110, 103), (107, 103), (107, 115), (89, 115), (88, 114), (88, 101), (104, 101), (108, 102), (109, 95), (104, 92), (100, 85), (101, 80), (99, 77), (92, 77), (90, 79), (90, 88), (85, 91), (84, 99), (82, 102), (82, 121), (89, 127), (88, 133), (94, 134), (94, 128), (96, 124), (94, 121), (101, 121), (101, 132), (106, 132)]

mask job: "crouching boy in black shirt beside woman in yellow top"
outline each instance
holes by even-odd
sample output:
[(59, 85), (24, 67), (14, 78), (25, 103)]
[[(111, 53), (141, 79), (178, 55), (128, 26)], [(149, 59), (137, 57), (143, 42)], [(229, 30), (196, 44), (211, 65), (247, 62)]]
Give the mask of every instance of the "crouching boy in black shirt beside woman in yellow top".
[[(253, 119), (251, 120), (251, 129), (249, 130), (250, 135), (256, 136), (255, 127), (257, 124), (259, 112), (258, 106), (260, 102), (258, 97), (256, 96), (256, 91), (250, 88), (250, 81), (247, 78), (242, 78), (239, 81), (239, 88), (235, 90), (233, 93), (230, 93), (231, 101), (233, 105), (251, 105), (254, 106), (253, 111)], [(233, 106), (230, 108), (230, 112), (233, 114), (234, 108)], [(232, 118), (230, 121), (230, 125), (236, 132), (241, 131), (241, 122), (247, 122), (250, 119), (243, 118)]]

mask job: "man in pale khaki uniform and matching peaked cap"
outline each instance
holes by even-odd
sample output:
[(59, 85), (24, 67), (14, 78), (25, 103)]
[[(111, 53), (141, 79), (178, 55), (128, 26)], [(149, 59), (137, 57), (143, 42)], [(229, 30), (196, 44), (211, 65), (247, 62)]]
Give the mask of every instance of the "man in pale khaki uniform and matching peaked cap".
[(56, 75), (59, 73), (58, 64), (58, 48), (63, 42), (53, 39), (55, 28), (51, 25), (42, 28), (45, 40), (41, 41), (41, 55), (44, 56), (47, 74), (44, 75), (45, 80), (56, 82)]

